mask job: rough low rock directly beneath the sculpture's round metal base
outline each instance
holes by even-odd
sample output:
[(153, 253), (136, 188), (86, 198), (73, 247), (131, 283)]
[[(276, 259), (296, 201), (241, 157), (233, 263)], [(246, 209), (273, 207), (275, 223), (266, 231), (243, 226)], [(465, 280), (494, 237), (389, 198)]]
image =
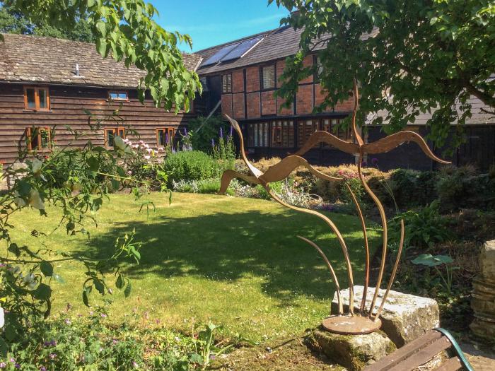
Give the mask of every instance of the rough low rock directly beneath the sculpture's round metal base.
[(349, 371), (361, 371), (395, 351), (395, 345), (381, 331), (366, 335), (338, 335), (323, 329), (313, 331), (310, 346)]

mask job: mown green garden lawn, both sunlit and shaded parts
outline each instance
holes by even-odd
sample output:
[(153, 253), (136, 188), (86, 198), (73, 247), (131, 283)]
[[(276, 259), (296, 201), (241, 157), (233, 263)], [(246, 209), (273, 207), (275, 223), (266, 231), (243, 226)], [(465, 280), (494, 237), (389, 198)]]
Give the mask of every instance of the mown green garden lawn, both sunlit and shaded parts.
[[(143, 242), (141, 264), (128, 266), (132, 295), (119, 290), (105, 295), (112, 300), (109, 321), (139, 321), (187, 331), (192, 322), (224, 326), (227, 336), (240, 334), (255, 341), (298, 334), (316, 326), (329, 313), (334, 285), (321, 257), (296, 236), (308, 237), (329, 257), (341, 286), (347, 287), (346, 271), (337, 239), (321, 220), (289, 211), (272, 201), (240, 199), (211, 194), (152, 194), (156, 211), (146, 218), (139, 201), (129, 195), (110, 196), (96, 213), (98, 228), (89, 225), (91, 239), (67, 236), (54, 230), (60, 214), (48, 208), (48, 218), (25, 210), (12, 218), (15, 242), (47, 245), (61, 252), (107, 256), (115, 238), (136, 231)], [(354, 216), (328, 213), (349, 245), (355, 280), (363, 273), (363, 240)], [(44, 232), (47, 235), (40, 235)], [(379, 245), (380, 233), (368, 231), (371, 247)], [(38, 235), (38, 237), (33, 237)], [(53, 311), (87, 313), (81, 300), (85, 279), (83, 266), (55, 266), (65, 283), (54, 284)], [(356, 279), (357, 278), (357, 279)], [(113, 280), (112, 280), (113, 281)], [(92, 305), (101, 305), (95, 293)]]

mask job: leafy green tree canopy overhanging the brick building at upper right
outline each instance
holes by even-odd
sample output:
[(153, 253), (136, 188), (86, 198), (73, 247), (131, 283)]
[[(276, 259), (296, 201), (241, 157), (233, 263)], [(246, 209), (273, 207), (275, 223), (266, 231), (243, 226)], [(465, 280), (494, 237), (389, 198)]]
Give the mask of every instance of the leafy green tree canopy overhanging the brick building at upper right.
[[(445, 140), (456, 119), (464, 124), (471, 116), (470, 95), (495, 108), (493, 1), (272, 2), (289, 11), (296, 8), (281, 23), (302, 30), (301, 51), (287, 59), (279, 90), (287, 102), (298, 81), (318, 73), (328, 94), (318, 110), (334, 107), (349, 98), (355, 77), (361, 85), (361, 118), (387, 110), (384, 129), (391, 132), (432, 112), (428, 124), (436, 143)], [(321, 66), (305, 67), (305, 56), (314, 50)], [(373, 124), (382, 123), (376, 115)]]

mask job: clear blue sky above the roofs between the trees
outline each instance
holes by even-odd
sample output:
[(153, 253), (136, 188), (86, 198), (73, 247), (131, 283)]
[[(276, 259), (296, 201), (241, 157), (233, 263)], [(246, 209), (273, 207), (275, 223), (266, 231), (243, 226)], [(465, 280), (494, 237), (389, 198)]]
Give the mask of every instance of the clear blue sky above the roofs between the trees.
[[(158, 23), (192, 37), (197, 51), (279, 27), (289, 13), (267, 0), (148, 0), (160, 12)], [(182, 47), (187, 52), (190, 49)]]

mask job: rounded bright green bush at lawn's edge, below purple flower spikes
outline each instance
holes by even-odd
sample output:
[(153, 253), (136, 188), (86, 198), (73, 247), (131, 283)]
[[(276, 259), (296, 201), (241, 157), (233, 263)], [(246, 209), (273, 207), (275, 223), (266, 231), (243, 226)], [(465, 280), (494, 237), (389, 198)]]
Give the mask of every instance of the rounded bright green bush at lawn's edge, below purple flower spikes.
[(171, 182), (202, 180), (219, 177), (224, 170), (222, 163), (201, 151), (180, 151), (165, 158), (163, 168)]

